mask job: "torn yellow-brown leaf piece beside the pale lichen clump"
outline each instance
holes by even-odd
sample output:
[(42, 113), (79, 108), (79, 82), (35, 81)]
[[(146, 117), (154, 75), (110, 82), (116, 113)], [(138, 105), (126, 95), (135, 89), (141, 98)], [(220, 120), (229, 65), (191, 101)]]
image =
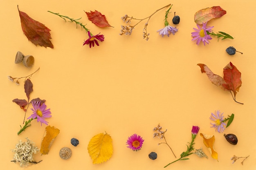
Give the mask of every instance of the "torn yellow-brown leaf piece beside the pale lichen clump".
[(60, 130), (55, 128), (54, 126), (46, 126), (45, 135), (41, 142), (40, 152), (43, 155), (48, 154), (50, 147), (52, 146), (52, 142), (59, 134)]

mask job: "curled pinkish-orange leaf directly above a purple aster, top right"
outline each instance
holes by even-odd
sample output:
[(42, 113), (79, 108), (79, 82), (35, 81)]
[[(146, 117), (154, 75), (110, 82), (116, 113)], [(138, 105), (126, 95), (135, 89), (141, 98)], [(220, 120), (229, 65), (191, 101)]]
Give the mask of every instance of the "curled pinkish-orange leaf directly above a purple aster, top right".
[(213, 18), (220, 18), (222, 15), (225, 15), (227, 11), (222, 9), (220, 6), (214, 6), (211, 8), (205, 8), (197, 11), (194, 16), (195, 23), (202, 24)]

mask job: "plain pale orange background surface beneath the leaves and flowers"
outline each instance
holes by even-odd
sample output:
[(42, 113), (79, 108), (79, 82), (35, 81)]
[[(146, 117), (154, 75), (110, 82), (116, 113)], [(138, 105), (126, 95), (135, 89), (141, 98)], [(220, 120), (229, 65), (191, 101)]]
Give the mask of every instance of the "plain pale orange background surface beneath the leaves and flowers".
[[(156, 31), (164, 27), (164, 15), (168, 9), (158, 11), (148, 22), (148, 41), (142, 38), (146, 21), (138, 24), (130, 36), (120, 36), (121, 17), (125, 14), (135, 18), (145, 18), (155, 10), (172, 3), (172, 13), (168, 15), (171, 26), (173, 12), (180, 15), (179, 29), (175, 35), (160, 36)], [(13, 99), (26, 99), (23, 80), (20, 85), (7, 79), (7, 76), (22, 77), (40, 70), (31, 77), (34, 91), (31, 99), (40, 97), (46, 100), (52, 117), (49, 125), (59, 128), (49, 154), (35, 155), (35, 160), (42, 162), (27, 167), (27, 170), (253, 170), (255, 163), (255, 34), (253, 0), (72, 0), (72, 1), (6, 1), (0, 6), (1, 16), (1, 60), (0, 66), (0, 113), (1, 113), (1, 167), (4, 170), (18, 170), (18, 163), (10, 162), (13, 158), (11, 149), (21, 139), (28, 137), (40, 148), (46, 125), (32, 121), (32, 126), (17, 136), (22, 125), (24, 112)], [(54, 49), (35, 46), (27, 40), (20, 26), (17, 5), (20, 11), (45, 24), (52, 31)], [(207, 25), (214, 26), (213, 31), (223, 31), (234, 40), (217, 40), (210, 44), (197, 46), (191, 41), (191, 32), (196, 24), (193, 20), (196, 11), (221, 6), (227, 14), (211, 20)], [(84, 11), (100, 11), (106, 15), (110, 25), (99, 28), (92, 24)], [(104, 42), (89, 48), (82, 46), (88, 38), (85, 30), (74, 23), (65, 22), (52, 11), (70, 18), (81, 18), (80, 22), (94, 35), (105, 35)], [(137, 23), (132, 21), (131, 25)], [(225, 49), (234, 46), (244, 54), (228, 55)], [(34, 65), (26, 68), (14, 64), (17, 51), (35, 57)], [(232, 62), (242, 73), (242, 86), (236, 99), (244, 105), (234, 102), (228, 91), (222, 91), (211, 84), (206, 74), (202, 74), (198, 63), (203, 63), (216, 74), (223, 76), (223, 68)], [(27, 112), (27, 117), (32, 113)], [(215, 110), (224, 112), (224, 116), (235, 114), (231, 126), (225, 133), (234, 133), (238, 144), (233, 146), (210, 128), (210, 114)], [(153, 128), (159, 124), (168, 129), (166, 139), (177, 157), (186, 150), (191, 141), (192, 126), (200, 126), (200, 131), (215, 135), (215, 149), (218, 161), (212, 159), (203, 139), (198, 135), (195, 148), (202, 147), (209, 157), (200, 158), (190, 155), (187, 161), (178, 161), (167, 168), (166, 164), (174, 161), (171, 151), (160, 139), (153, 138)], [(110, 160), (93, 165), (87, 151), (90, 139), (101, 132), (107, 132), (113, 139), (114, 152)], [(139, 152), (126, 148), (127, 138), (137, 133), (143, 137), (144, 144)], [(70, 139), (79, 139), (74, 147)], [(72, 149), (72, 157), (62, 160), (58, 152), (62, 147)], [(150, 152), (157, 152), (157, 159), (148, 158)], [(245, 157), (242, 166), (239, 159), (234, 164), (233, 155)]]

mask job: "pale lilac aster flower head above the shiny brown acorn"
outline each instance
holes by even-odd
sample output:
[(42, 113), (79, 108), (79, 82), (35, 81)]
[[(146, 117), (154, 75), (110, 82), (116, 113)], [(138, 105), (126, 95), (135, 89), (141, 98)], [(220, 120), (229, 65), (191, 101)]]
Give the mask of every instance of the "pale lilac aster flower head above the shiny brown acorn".
[(226, 124), (223, 122), (224, 116), (222, 116), (222, 115), (223, 115), (223, 113), (220, 114), (220, 110), (217, 110), (217, 113), (216, 113), (216, 111), (215, 111), (215, 114), (211, 113), (211, 117), (210, 117), (210, 119), (212, 121), (214, 121), (214, 123), (211, 123), (213, 125), (211, 127), (216, 128), (216, 131), (218, 130), (219, 133), (224, 132), (224, 130), (225, 130), (224, 126), (226, 126)]

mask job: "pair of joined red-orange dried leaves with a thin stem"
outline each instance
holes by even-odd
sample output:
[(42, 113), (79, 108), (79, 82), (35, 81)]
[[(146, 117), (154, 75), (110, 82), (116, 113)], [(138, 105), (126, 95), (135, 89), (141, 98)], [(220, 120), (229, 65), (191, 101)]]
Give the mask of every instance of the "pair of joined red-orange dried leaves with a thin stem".
[[(236, 101), (236, 94), (239, 91), (239, 88), (242, 86), (242, 80), (241, 80), (241, 72), (238, 71), (238, 69), (236, 68), (236, 66), (234, 66), (231, 62), (229, 62), (229, 64), (227, 64), (227, 66), (225, 66), (223, 68), (223, 73), (224, 76), (223, 78), (220, 77), (219, 75), (214, 74), (207, 65), (205, 64), (197, 64), (198, 66), (200, 66), (201, 68), (201, 72), (202, 73), (206, 73), (206, 75), (208, 76), (208, 78), (210, 79), (210, 81), (215, 84), (216, 86), (219, 86), (222, 89), (226, 89), (228, 91), (233, 92), (234, 94), (234, 101)], [(237, 102), (239, 103), (239, 102)], [(242, 103), (240, 103), (242, 104)]]

